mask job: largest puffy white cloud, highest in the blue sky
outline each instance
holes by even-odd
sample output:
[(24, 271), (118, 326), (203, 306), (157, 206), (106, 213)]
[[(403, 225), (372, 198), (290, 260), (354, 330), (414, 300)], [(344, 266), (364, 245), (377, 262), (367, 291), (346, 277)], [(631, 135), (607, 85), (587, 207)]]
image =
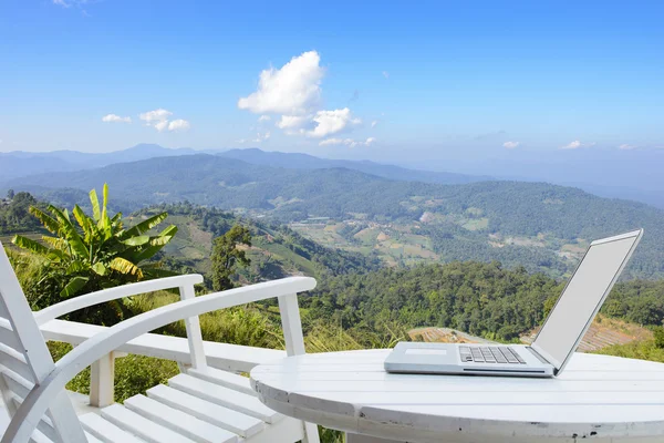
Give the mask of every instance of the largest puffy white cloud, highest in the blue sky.
[(303, 115), (319, 103), (324, 69), (317, 51), (293, 56), (281, 69), (260, 73), (258, 90), (238, 101), (240, 110), (256, 114)]

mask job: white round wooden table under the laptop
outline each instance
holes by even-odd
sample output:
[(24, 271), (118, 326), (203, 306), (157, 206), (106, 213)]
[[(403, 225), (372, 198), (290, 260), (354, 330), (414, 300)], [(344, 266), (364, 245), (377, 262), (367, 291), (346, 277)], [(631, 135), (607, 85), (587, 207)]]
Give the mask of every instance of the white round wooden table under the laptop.
[(268, 406), (349, 442), (664, 442), (664, 364), (577, 353), (556, 379), (390, 374), (390, 350), (251, 371)]

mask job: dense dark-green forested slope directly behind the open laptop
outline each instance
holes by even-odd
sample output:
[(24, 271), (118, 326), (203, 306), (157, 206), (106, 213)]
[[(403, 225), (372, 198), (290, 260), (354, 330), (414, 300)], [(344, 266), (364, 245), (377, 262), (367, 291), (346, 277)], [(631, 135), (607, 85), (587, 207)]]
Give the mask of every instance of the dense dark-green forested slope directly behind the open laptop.
[[(345, 329), (437, 326), (509, 341), (541, 324), (563, 285), (523, 268), (466, 261), (330, 277), (301, 305)], [(602, 313), (661, 326), (664, 280), (618, 284)]]

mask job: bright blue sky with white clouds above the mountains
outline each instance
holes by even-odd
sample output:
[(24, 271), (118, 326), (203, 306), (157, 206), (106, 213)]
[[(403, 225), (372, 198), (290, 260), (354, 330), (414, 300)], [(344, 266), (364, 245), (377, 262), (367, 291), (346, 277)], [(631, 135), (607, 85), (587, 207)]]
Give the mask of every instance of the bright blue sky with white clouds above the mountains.
[(663, 18), (660, 1), (3, 0), (0, 151), (655, 150)]

